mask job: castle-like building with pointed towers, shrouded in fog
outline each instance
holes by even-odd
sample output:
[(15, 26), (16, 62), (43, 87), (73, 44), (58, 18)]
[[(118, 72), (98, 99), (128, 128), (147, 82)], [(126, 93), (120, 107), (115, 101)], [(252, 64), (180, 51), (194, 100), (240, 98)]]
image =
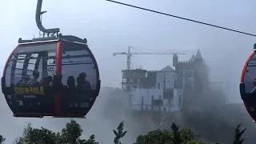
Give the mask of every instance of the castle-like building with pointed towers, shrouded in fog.
[(208, 89), (209, 68), (200, 50), (189, 61), (178, 61), (162, 70), (122, 70), (122, 89), (126, 104), (133, 110), (178, 111), (190, 94)]

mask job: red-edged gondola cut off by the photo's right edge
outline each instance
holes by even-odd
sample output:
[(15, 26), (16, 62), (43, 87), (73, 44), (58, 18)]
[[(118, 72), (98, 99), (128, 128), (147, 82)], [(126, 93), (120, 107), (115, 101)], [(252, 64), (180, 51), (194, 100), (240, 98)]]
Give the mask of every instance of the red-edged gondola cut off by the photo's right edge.
[(242, 69), (240, 94), (250, 117), (256, 121), (256, 44)]

